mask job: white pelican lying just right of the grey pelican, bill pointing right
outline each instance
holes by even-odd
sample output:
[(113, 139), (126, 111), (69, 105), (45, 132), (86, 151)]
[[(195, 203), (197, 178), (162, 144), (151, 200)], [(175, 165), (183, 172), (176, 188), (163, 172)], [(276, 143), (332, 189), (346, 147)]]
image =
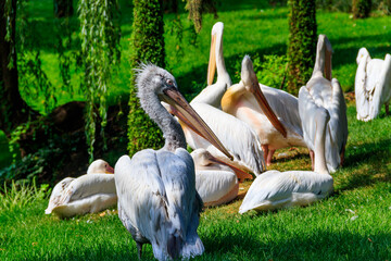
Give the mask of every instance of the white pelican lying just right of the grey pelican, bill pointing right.
[(227, 203), (238, 196), (239, 181), (252, 175), (213, 157), (205, 149), (191, 152), (195, 166), (195, 189), (204, 206)]

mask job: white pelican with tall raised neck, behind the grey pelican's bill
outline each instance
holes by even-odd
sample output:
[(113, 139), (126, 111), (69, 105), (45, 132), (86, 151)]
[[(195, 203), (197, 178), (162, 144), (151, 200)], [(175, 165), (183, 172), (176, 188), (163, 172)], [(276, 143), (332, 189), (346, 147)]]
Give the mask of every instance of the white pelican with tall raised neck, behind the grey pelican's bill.
[[(212, 29), (211, 55), (207, 69), (209, 86), (204, 88), (191, 102), (191, 107), (212, 128), (227, 150), (234, 156), (231, 162), (211, 142), (197, 134), (185, 119), (179, 117), (186, 140), (192, 149), (206, 149), (215, 158), (226, 163), (235, 164), (239, 169), (260, 175), (264, 171), (261, 144), (254, 132), (240, 120), (219, 110), (220, 100), (231, 80), (226, 71), (223, 57), (223, 23), (218, 22)], [(217, 82), (211, 85), (217, 67)]]

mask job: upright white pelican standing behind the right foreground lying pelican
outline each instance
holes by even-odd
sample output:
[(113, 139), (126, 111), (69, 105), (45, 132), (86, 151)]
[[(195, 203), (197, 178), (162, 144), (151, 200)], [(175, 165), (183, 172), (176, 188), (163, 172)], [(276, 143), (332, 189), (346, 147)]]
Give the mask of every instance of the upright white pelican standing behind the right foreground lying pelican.
[[(316, 48), (316, 61), (311, 79), (299, 91), (299, 113), (302, 120), (304, 140), (311, 150), (316, 149), (312, 122), (312, 111), (306, 103), (314, 100), (318, 107), (325, 108), (330, 114), (326, 129), (326, 162), (329, 172), (335, 172), (343, 163), (348, 140), (346, 104), (343, 91), (336, 78), (331, 79), (331, 44), (325, 35), (319, 35)], [(325, 76), (324, 77), (324, 72)], [(316, 158), (316, 154), (315, 154)], [(314, 161), (313, 161), (314, 162)]]

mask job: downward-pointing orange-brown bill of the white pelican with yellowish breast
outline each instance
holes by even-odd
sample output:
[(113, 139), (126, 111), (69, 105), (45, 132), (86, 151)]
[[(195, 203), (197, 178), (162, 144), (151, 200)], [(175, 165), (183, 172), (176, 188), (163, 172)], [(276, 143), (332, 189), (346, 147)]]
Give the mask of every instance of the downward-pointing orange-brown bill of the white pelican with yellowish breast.
[[(254, 74), (255, 75), (255, 74)], [(262, 111), (265, 113), (267, 119), (270, 121), (273, 126), (282, 134), (282, 136), (287, 137), (287, 130), (283, 127), (282, 123), (277, 119), (276, 114), (272, 110), (269, 103), (267, 102), (264, 94), (261, 90), (260, 83), (255, 77), (251, 77), (251, 92), (254, 95), (257, 103), (260, 104)]]

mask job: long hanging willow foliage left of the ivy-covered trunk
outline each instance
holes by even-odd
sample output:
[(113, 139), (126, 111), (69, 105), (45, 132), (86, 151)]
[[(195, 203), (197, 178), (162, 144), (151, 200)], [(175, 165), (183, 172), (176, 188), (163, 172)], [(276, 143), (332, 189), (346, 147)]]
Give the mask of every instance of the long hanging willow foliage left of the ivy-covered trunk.
[(106, 125), (106, 91), (112, 66), (119, 62), (118, 4), (116, 0), (81, 0), (81, 52), (85, 63), (84, 85), (87, 94), (86, 138), (90, 161), (93, 160), (96, 122), (99, 108), (101, 136)]

